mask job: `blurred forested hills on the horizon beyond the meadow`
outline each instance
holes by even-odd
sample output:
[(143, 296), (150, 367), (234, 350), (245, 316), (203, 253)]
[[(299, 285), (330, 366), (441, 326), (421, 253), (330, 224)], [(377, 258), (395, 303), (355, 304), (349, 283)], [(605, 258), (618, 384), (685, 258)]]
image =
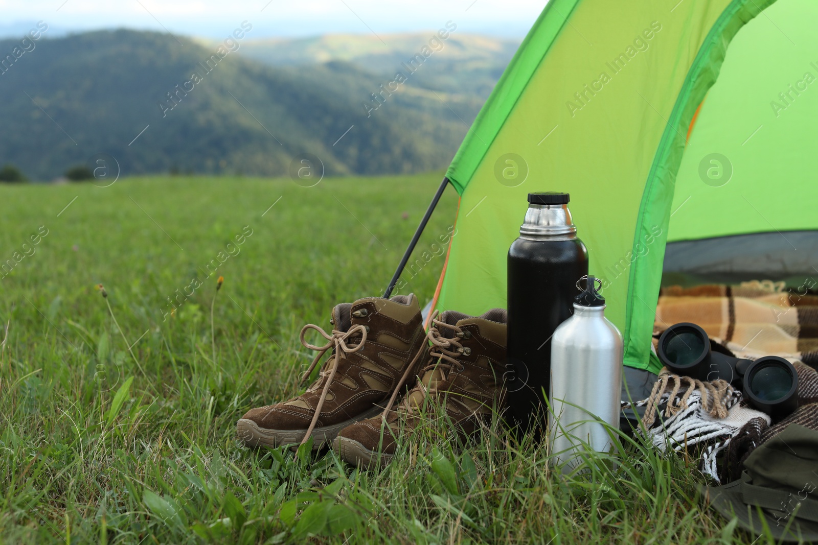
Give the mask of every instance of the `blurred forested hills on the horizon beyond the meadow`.
[[(411, 36), (384, 37), (393, 48), (381, 51), (368, 38), (316, 38), (306, 47), (248, 34), (224, 58), (216, 43), (178, 36), (182, 46), (152, 32), (43, 38), (0, 74), (0, 164), (35, 180), (97, 153), (114, 156), (124, 175), (281, 175), (303, 153), (320, 158), (327, 174), (444, 168), (511, 46), (452, 34), (415, 74), (404, 69), (407, 81), (392, 83), (398, 91), (374, 109), (371, 93), (389, 87), (400, 62), (424, 45)], [(17, 45), (0, 41), (0, 58)]]

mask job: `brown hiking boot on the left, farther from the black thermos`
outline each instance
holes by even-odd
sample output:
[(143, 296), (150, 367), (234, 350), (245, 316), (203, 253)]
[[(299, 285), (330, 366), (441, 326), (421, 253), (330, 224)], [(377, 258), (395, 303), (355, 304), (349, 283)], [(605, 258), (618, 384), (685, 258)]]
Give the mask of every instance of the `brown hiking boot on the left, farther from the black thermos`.
[[(245, 444), (303, 444), (312, 436), (312, 448), (318, 449), (342, 428), (383, 411), (398, 382), (414, 377), (424, 361), (423, 319), (414, 294), (342, 303), (332, 310), (330, 323), (331, 335), (312, 324), (301, 330), (303, 346), (318, 351), (302, 380), (332, 351), (317, 380), (289, 401), (250, 409), (236, 424)], [(321, 333), (326, 345), (306, 342), (308, 329)]]

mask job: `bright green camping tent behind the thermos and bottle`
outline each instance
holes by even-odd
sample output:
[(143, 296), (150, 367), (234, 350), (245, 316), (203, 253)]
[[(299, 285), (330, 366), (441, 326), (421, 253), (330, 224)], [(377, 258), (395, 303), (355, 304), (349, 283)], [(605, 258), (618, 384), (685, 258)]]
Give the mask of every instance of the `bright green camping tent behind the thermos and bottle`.
[(658, 371), (667, 243), (721, 241), (712, 256), (765, 235), (798, 257), (818, 229), (816, 28), (815, 0), (548, 2), (447, 171), (461, 199), (434, 307), (506, 306), (526, 194), (567, 191), (625, 364)]

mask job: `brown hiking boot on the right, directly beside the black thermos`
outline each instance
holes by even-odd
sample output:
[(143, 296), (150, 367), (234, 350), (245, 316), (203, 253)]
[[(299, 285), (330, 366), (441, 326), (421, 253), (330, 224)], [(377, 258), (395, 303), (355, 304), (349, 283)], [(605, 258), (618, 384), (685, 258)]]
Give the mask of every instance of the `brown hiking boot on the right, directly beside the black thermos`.
[(473, 434), (492, 407), (499, 410), (504, 404), (506, 321), (504, 309), (478, 317), (452, 310), (433, 316), (427, 335), (432, 347), (416, 386), (396, 406), (339, 431), (332, 448), (349, 463), (385, 466), (398, 436), (414, 429), (422, 413), (441, 407), (461, 437)]

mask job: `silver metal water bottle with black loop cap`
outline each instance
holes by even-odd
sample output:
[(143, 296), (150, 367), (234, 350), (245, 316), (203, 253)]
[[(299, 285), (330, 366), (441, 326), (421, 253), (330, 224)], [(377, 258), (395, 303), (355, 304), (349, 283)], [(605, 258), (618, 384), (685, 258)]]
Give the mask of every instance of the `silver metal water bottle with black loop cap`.
[[(589, 275), (584, 291), (573, 303), (573, 315), (554, 332), (551, 340), (551, 453), (566, 469), (575, 467), (585, 449), (605, 452), (610, 436), (599, 418), (619, 425), (622, 390), (622, 334), (605, 318), (601, 297)], [(577, 283), (580, 288), (580, 282)]]

